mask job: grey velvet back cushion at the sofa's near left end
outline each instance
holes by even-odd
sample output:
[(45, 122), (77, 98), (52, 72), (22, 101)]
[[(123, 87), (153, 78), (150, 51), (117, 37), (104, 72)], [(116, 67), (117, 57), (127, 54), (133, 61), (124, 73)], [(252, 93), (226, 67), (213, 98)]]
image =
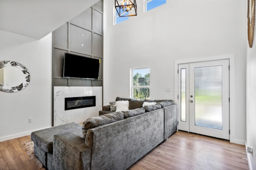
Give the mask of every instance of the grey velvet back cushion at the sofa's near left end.
[(86, 133), (87, 133), (88, 129), (98, 127), (100, 125), (112, 123), (115, 121), (119, 121), (122, 119), (124, 119), (124, 113), (121, 111), (100, 115), (98, 117), (90, 117), (90, 118), (86, 119), (86, 121), (84, 121), (84, 123), (82, 125), (83, 137), (86, 137)]

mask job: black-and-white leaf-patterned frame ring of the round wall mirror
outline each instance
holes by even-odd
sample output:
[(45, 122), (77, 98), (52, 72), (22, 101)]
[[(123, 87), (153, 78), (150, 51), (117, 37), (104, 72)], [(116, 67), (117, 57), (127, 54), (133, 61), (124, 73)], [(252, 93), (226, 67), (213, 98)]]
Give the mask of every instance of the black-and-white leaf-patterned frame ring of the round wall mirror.
[(18, 91), (24, 89), (26, 86), (28, 86), (28, 83), (30, 82), (30, 73), (28, 72), (28, 69), (24, 65), (17, 63), (15, 61), (1, 61), (0, 62), (0, 69), (7, 67), (7, 66), (13, 66), (13, 67), (20, 69), (24, 74), (24, 81), (16, 87), (9, 87), (9, 86), (4, 86), (4, 85), (0, 84), (0, 91), (9, 92), (9, 93), (10, 92), (18, 92)]

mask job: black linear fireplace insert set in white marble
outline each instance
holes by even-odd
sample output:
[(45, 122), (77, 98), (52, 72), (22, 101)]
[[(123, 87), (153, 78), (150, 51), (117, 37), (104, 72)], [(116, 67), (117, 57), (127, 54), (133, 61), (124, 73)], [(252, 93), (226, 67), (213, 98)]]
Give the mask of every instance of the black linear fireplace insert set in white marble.
[(65, 110), (96, 106), (96, 96), (65, 98)]

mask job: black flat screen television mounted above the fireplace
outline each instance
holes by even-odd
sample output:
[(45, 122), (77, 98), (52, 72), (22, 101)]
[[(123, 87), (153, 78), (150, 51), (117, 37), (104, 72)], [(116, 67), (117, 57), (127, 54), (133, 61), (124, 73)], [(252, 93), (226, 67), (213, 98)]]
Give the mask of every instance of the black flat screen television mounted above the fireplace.
[(98, 79), (99, 69), (100, 59), (65, 53), (63, 68), (64, 78)]

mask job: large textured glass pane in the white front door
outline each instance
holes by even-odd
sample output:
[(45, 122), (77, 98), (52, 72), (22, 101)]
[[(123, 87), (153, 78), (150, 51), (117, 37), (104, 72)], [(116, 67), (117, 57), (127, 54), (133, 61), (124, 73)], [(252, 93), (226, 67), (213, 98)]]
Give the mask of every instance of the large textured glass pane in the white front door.
[(195, 68), (195, 125), (222, 129), (222, 66)]

